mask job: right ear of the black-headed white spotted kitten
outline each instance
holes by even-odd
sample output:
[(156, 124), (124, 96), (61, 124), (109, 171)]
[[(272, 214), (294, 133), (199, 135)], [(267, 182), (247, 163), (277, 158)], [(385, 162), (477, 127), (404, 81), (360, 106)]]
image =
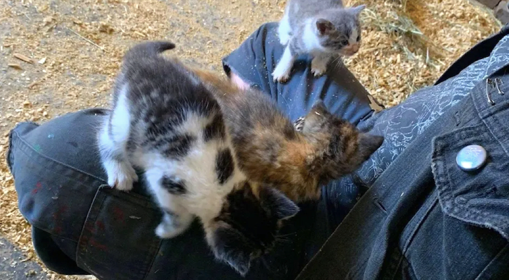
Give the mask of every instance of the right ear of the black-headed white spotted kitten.
[(264, 187), (260, 190), (260, 201), (277, 219), (289, 219), (300, 210), (293, 201), (272, 187)]

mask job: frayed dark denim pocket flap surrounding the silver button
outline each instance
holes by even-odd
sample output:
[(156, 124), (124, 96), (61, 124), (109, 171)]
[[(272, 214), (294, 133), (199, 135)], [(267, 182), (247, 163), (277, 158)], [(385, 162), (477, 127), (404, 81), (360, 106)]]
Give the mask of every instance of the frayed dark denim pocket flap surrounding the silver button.
[[(488, 154), (474, 172), (463, 171), (456, 163), (457, 154), (468, 145), (480, 145)], [(446, 215), (509, 238), (509, 157), (484, 124), (436, 137), (432, 171)]]

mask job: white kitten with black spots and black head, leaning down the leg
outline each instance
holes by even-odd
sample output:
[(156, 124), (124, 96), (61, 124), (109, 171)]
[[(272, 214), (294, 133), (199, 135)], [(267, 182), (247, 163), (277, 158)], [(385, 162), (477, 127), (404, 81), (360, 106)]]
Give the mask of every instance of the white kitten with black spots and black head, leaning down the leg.
[(156, 234), (175, 237), (197, 216), (215, 256), (245, 274), (298, 207), (246, 179), (213, 94), (180, 62), (160, 55), (174, 47), (146, 42), (125, 55), (98, 134), (108, 184), (130, 190), (133, 166), (144, 170), (164, 212)]

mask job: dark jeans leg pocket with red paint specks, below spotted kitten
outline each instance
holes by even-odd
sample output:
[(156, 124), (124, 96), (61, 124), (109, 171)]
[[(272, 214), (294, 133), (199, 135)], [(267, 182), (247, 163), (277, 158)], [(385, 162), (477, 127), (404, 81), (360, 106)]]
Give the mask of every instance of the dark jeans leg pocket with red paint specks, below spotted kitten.
[(99, 279), (141, 280), (160, 246), (161, 214), (146, 197), (101, 186), (76, 251), (77, 265)]

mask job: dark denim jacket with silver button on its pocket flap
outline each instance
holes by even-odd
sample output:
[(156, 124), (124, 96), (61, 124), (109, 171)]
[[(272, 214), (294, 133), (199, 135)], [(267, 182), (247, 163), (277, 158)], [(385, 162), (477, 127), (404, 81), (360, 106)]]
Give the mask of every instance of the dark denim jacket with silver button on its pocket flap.
[[(507, 33), (439, 79), (488, 58), (483, 78), (380, 174), (298, 280), (509, 279)], [(474, 172), (456, 162), (468, 145), (488, 154)]]

